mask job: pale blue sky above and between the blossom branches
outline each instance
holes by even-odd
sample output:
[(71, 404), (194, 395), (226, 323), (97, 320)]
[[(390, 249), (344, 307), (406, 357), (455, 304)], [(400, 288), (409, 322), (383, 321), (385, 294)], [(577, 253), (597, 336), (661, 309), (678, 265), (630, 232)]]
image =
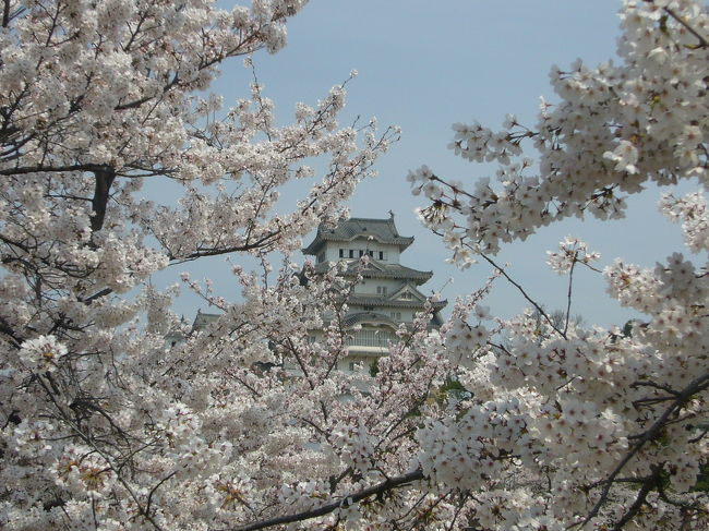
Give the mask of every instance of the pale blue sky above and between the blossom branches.
[[(402, 263), (433, 270), (423, 291), (445, 285), (443, 295), (453, 300), (481, 286), (491, 268), (481, 263), (459, 271), (445, 263), (448, 253), (442, 242), (416, 219), (413, 210), (422, 200), (410, 194), (407, 171), (425, 164), (440, 176), (470, 184), (494, 174), (494, 167), (471, 165), (446, 148), (452, 123), (478, 120), (498, 129), (512, 112), (533, 125), (539, 97), (555, 100), (548, 76), (552, 64), (563, 68), (581, 58), (594, 65), (614, 57), (618, 8), (620, 2), (611, 0), (311, 0), (290, 22), (286, 49), (259, 55), (254, 62), (283, 123), (297, 101), (313, 104), (351, 69), (359, 71), (349, 85), (341, 123), (375, 116), (382, 128), (401, 126), (402, 136), (378, 160), (380, 177), (356, 193), (351, 214), (386, 217), (393, 209), (399, 231), (417, 239)], [(238, 60), (225, 65), (214, 85), (225, 106), (247, 94), (249, 75)], [(622, 256), (652, 267), (682, 249), (680, 229), (657, 212), (658, 198), (654, 189), (632, 198), (625, 220), (572, 220), (542, 229), (505, 248), (498, 261), (512, 264), (510, 275), (540, 303), (565, 306), (567, 278), (549, 269), (545, 251), (573, 234), (601, 252), (601, 265)], [(219, 258), (192, 274), (215, 277), (225, 297), (236, 299), (227, 270)], [(493, 313), (509, 316), (526, 306), (514, 289), (498, 283), (488, 301)], [(575, 293), (573, 313), (587, 323), (622, 326), (634, 315), (605, 295), (597, 274), (579, 271)], [(190, 316), (197, 306), (195, 299), (185, 297), (178, 311)]]

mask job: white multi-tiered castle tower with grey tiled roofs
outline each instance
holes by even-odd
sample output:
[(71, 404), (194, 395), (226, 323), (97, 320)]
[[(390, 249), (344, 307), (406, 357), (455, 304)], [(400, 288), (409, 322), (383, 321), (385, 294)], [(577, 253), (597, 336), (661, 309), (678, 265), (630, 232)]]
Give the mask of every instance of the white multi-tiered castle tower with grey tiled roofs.
[[(421, 271), (399, 263), (401, 253), (413, 243), (412, 237), (402, 237), (394, 225), (394, 214), (388, 219), (350, 218), (337, 227), (321, 226), (315, 239), (303, 249), (303, 254), (316, 258), (316, 269), (326, 270), (329, 262), (346, 261), (345, 276), (357, 275), (359, 260), (369, 255), (363, 280), (354, 286), (347, 301), (349, 312), (345, 326), (351, 329), (347, 340), (348, 355), (339, 369), (353, 371), (358, 364), (368, 369), (388, 352), (389, 341), (395, 341), (395, 330), (401, 323), (410, 324), (423, 311), (426, 297), (419, 287), (426, 282), (432, 271)], [(445, 301), (434, 303), (432, 327), (441, 325), (440, 310)], [(315, 330), (311, 339), (317, 339)]]

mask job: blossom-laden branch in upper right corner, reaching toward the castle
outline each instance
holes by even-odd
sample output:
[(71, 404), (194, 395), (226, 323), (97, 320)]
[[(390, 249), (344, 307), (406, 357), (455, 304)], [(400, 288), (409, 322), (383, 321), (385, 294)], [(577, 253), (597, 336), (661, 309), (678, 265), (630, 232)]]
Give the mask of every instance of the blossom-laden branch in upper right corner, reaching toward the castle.
[[(414, 193), (433, 203), (421, 210), (425, 225), (495, 253), (502, 242), (524, 240), (564, 217), (621, 217), (624, 194), (639, 191), (646, 179), (705, 183), (705, 10), (684, 0), (627, 1), (621, 17), (621, 62), (554, 67), (550, 79), (562, 99), (543, 100), (534, 126), (513, 116), (501, 132), (454, 125), (454, 152), (498, 162), (498, 186), (485, 179), (461, 186), (426, 167), (411, 172)], [(536, 161), (525, 143), (538, 150)], [(543, 178), (529, 174), (532, 166)]]

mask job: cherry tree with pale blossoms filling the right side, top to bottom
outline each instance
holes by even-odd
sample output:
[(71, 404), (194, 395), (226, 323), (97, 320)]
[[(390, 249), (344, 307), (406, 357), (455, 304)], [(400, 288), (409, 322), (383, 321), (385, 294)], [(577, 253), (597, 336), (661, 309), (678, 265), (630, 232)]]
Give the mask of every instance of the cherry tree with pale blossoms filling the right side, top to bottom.
[[(450, 147), (467, 160), (496, 162), (496, 182), (468, 185), (425, 167), (409, 176), (413, 192), (431, 202), (421, 218), (453, 260), (490, 263), (530, 304), (507, 323), (459, 304), (442, 331), (459, 382), (474, 396), (417, 434), (424, 475), (465, 488), (471, 499), (461, 511), (483, 529), (709, 524), (707, 494), (693, 491), (709, 448), (707, 265), (696, 265), (709, 249), (704, 188), (660, 202), (682, 222), (696, 260), (677, 252), (653, 269), (616, 260), (601, 271), (598, 253), (577, 239), (550, 252), (550, 266), (569, 277), (562, 323), (494, 258), (503, 243), (569, 216), (622, 217), (624, 197), (648, 181), (706, 185), (706, 4), (626, 0), (621, 21), (620, 62), (553, 67), (558, 101), (542, 100), (533, 126), (514, 116), (500, 132), (454, 125)], [(581, 267), (602, 274), (613, 298), (647, 316), (629, 336), (569, 319)], [(503, 327), (505, 341), (485, 323)]]

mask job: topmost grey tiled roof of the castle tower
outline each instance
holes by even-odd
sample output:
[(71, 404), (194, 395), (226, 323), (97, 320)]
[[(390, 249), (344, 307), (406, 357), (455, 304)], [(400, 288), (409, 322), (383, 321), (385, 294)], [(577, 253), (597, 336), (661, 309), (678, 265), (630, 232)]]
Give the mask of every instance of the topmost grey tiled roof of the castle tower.
[(317, 254), (320, 248), (327, 241), (349, 242), (357, 238), (372, 238), (380, 243), (398, 245), (401, 251), (413, 243), (413, 237), (399, 234), (394, 225), (394, 215), (388, 219), (349, 218), (341, 220), (336, 227), (321, 225), (317, 234), (310, 245), (303, 249), (303, 254)]

